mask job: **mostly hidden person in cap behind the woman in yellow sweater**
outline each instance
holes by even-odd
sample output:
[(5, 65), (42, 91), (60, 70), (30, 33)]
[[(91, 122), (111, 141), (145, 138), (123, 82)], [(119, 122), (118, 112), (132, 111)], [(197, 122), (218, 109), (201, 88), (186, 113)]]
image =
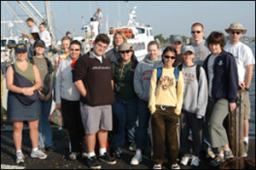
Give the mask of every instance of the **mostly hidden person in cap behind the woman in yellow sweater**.
[(173, 67), (176, 67), (177, 65), (183, 64), (183, 56), (181, 53), (181, 48), (183, 47), (183, 38), (181, 36), (173, 36), (171, 40), (171, 45), (176, 49), (177, 51), (177, 58), (172, 65)]

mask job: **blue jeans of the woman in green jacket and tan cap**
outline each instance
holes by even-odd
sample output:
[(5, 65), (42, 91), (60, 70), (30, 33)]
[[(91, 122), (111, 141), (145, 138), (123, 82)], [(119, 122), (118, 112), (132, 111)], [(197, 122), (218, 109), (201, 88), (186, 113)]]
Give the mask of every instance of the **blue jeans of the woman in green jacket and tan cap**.
[(113, 114), (119, 119), (118, 133), (113, 136), (113, 145), (123, 147), (125, 144), (125, 131), (130, 144), (135, 143), (137, 121), (137, 98), (120, 99), (115, 97), (112, 106)]

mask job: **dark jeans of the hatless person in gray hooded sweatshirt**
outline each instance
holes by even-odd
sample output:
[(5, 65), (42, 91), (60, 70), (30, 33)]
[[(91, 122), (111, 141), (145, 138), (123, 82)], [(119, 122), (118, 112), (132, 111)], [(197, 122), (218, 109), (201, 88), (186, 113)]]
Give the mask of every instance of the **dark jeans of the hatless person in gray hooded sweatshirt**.
[(140, 150), (146, 150), (148, 148), (148, 123), (150, 111), (148, 109), (148, 101), (138, 99), (137, 103), (139, 126), (137, 127), (136, 147)]

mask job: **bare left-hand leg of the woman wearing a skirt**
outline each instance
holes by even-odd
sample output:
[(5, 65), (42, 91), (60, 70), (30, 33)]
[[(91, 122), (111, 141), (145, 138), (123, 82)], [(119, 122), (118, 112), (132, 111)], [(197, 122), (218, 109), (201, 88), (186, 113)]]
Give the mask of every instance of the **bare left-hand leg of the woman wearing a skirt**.
[(13, 124), (15, 148), (16, 150), (21, 150), (23, 122), (15, 121)]

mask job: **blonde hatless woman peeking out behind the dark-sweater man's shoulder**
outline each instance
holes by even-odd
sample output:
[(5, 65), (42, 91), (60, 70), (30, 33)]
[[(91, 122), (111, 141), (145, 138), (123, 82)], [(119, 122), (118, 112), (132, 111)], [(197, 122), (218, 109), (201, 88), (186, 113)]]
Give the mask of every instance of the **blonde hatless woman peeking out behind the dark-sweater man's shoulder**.
[(118, 49), (123, 42), (127, 42), (125, 33), (122, 31), (116, 32), (113, 35), (113, 48), (106, 53), (106, 57), (111, 60), (111, 63), (121, 58)]

